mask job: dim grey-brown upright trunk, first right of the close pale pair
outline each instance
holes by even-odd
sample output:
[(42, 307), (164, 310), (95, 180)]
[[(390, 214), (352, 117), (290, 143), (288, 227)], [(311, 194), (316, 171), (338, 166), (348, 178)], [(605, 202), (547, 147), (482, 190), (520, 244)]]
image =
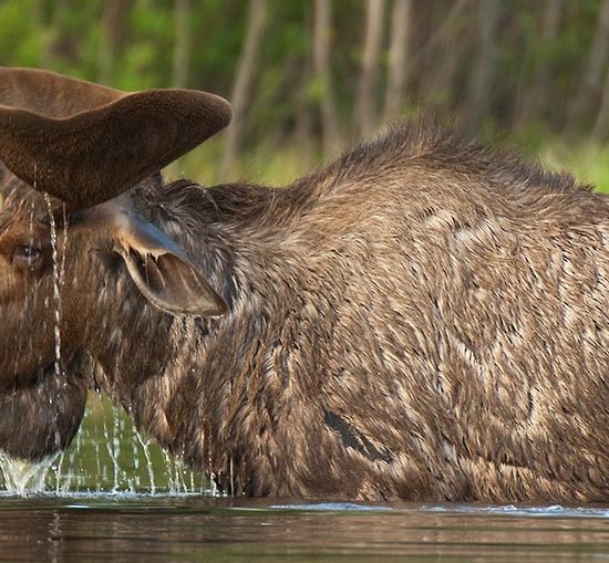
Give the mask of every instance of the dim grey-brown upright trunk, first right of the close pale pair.
[(477, 131), (491, 110), (493, 73), (496, 64), (496, 35), (499, 24), (500, 0), (479, 1), (478, 58), (473, 66), (469, 123)]

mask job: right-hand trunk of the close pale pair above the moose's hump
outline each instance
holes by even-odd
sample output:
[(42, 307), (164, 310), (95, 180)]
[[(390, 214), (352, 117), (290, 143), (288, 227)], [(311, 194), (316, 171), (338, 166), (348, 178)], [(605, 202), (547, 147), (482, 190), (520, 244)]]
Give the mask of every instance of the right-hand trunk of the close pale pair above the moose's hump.
[(404, 103), (407, 79), (406, 60), (409, 53), (411, 13), (412, 0), (393, 0), (384, 111), (386, 121), (395, 119), (400, 115)]

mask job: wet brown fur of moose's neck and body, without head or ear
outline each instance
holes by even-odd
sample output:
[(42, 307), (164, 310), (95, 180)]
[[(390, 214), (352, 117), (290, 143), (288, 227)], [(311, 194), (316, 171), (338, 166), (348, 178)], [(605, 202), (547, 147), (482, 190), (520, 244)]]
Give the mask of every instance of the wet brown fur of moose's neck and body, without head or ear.
[(224, 490), (609, 498), (606, 197), (402, 125), (283, 189), (133, 199), (230, 313), (161, 314), (118, 275), (96, 384)]

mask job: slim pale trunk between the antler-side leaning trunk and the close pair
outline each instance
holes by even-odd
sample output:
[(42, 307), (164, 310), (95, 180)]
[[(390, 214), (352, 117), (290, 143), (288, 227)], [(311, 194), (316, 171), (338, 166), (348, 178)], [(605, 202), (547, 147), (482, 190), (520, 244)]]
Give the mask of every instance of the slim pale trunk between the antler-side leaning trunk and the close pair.
[(341, 147), (341, 134), (330, 69), (330, 31), (332, 25), (331, 0), (316, 0), (313, 22), (313, 80), (320, 85), (322, 149), (326, 158), (334, 156)]

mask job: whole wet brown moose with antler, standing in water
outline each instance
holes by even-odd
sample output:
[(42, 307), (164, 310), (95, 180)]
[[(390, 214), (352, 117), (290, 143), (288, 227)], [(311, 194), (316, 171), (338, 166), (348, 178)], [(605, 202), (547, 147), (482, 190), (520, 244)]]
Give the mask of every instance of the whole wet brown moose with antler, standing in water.
[(234, 494), (609, 500), (607, 197), (425, 122), (164, 180), (229, 119), (0, 70), (0, 447), (65, 448), (94, 388)]

